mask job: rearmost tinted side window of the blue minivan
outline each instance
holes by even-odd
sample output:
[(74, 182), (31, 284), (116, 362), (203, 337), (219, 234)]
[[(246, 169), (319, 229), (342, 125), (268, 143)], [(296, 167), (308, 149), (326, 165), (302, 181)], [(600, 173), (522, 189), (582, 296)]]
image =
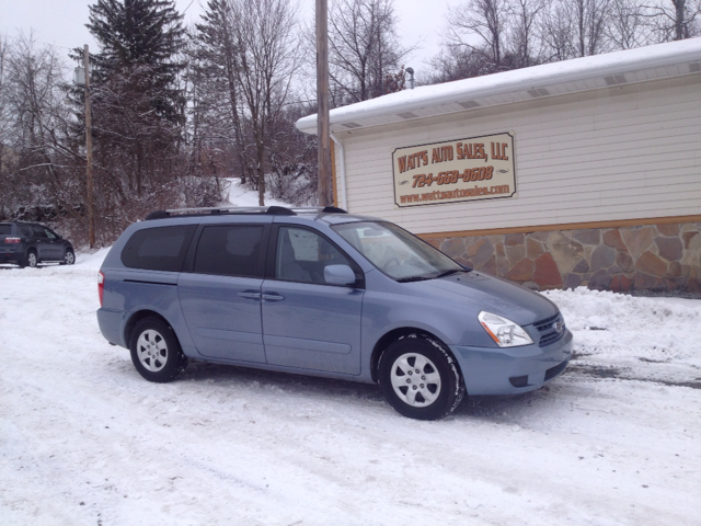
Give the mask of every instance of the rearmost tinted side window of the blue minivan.
[(196, 225), (139, 230), (122, 251), (122, 263), (130, 268), (180, 272)]

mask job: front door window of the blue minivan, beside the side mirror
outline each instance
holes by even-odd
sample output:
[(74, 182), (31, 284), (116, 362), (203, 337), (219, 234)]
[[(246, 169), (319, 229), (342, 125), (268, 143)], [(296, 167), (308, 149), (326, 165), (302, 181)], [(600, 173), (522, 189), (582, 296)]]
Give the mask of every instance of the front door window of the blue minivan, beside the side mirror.
[(335, 245), (311, 230), (280, 227), (275, 254), (275, 277), (289, 282), (325, 284), (329, 265), (353, 264)]

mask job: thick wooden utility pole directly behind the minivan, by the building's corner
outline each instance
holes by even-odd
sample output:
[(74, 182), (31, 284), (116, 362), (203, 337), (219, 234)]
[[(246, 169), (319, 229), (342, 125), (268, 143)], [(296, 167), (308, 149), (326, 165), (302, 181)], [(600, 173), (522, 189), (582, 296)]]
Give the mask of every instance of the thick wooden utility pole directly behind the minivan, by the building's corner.
[(319, 142), (319, 206), (333, 205), (331, 128), (329, 126), (329, 8), (317, 0), (317, 139)]

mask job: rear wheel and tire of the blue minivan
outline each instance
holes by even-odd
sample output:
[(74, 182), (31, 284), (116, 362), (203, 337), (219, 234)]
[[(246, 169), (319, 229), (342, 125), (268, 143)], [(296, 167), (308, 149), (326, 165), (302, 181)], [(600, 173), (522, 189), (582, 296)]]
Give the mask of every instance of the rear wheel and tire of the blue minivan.
[(172, 381), (187, 367), (173, 329), (159, 318), (145, 318), (136, 324), (129, 350), (136, 370), (149, 381)]

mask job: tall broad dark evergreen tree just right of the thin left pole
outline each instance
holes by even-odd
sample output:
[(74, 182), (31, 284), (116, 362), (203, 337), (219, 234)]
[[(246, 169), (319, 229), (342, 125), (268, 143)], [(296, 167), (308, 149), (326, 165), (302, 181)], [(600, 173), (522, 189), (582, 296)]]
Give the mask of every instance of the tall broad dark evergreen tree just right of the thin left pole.
[(172, 0), (97, 0), (89, 20), (96, 231), (110, 237), (181, 204), (185, 30)]

